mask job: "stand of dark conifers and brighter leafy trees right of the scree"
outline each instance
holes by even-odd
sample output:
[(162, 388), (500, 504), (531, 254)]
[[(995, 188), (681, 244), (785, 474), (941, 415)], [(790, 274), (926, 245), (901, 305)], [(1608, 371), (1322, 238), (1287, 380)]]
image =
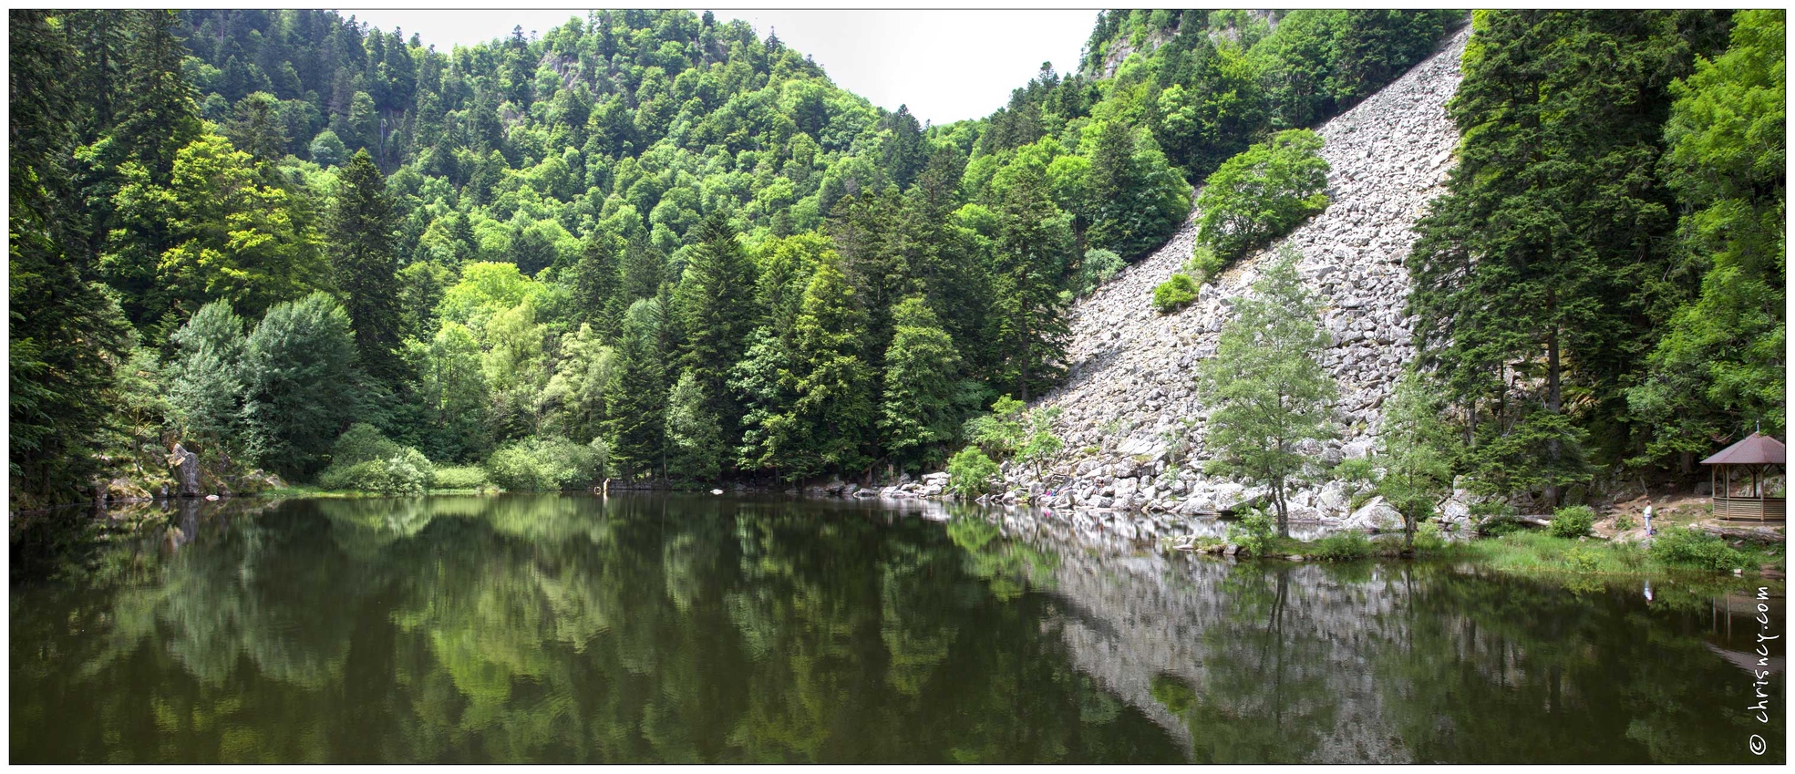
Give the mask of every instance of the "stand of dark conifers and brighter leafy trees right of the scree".
[(1416, 226), (1422, 366), (1492, 490), (1784, 431), (1784, 13), (1479, 13)]

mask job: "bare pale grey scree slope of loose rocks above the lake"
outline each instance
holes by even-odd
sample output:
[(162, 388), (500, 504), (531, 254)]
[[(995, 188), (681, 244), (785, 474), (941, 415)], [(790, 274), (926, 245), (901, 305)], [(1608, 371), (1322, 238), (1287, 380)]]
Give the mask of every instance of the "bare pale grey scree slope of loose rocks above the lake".
[[(1468, 36), (1470, 29), (1461, 29), (1438, 54), (1319, 129), (1327, 138), (1321, 154), (1334, 167), (1332, 205), (1278, 242), (1303, 253), (1300, 271), (1319, 293), (1323, 325), (1334, 336), (1323, 365), (1341, 386), (1343, 433), (1312, 449), (1330, 462), (1371, 447), (1379, 406), (1414, 356), (1402, 260), (1414, 242), (1411, 226), (1443, 190), (1452, 167), (1458, 131), (1445, 104), (1458, 88)], [(1034, 483), (1032, 472), (1012, 471), (1011, 488), (1052, 488), (1054, 497), (1045, 501), (1061, 508), (1178, 514), (1228, 508), (1255, 494), (1201, 476), (1185, 460), (1208, 458), (1204, 408), (1192, 390), (1195, 365), (1215, 352), (1233, 296), (1246, 293), (1273, 251), (1242, 260), (1217, 287), (1203, 287), (1199, 302), (1183, 312), (1156, 316), (1152, 287), (1190, 257), (1194, 237), (1195, 226), (1186, 221), (1160, 251), (1073, 307), (1070, 377), (1041, 402), (1064, 409), (1055, 431), (1066, 445), (1050, 465), (1057, 476)], [(1183, 433), (1183, 442), (1169, 440), (1167, 433), (1185, 418), (1197, 426)], [(1339, 517), (1344, 501), (1335, 499), (1334, 492), (1296, 492), (1292, 517)], [(1163, 517), (1152, 521), (1169, 526)], [(1140, 526), (1152, 530), (1149, 521)]]

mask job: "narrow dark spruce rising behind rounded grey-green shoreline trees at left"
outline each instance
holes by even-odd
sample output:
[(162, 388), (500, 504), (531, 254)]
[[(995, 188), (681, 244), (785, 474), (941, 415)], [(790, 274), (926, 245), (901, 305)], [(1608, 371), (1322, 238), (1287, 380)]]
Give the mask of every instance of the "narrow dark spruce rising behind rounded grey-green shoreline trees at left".
[(337, 183), (330, 217), (330, 262), (343, 307), (355, 327), (355, 348), (368, 375), (397, 383), (404, 374), (398, 357), (402, 309), (398, 257), (393, 250), (397, 217), (386, 176), (368, 151), (355, 151)]

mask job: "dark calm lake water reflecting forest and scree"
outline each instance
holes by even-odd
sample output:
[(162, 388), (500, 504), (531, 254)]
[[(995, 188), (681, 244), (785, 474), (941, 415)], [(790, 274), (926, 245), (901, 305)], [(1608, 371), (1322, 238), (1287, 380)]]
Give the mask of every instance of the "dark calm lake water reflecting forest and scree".
[(1756, 605), (1745, 585), (1646, 602), (1445, 564), (1230, 566), (784, 499), (169, 523), (72, 578), (14, 573), (13, 763), (1786, 754), (1781, 645), (1770, 724), (1747, 709), (1759, 625), (1725, 612)]

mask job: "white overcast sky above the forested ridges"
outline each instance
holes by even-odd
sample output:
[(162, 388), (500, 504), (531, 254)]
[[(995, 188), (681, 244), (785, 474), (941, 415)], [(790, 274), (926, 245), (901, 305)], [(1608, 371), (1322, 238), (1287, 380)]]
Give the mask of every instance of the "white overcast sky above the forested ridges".
[[(547, 32), (585, 11), (341, 11), (382, 31), (416, 32), (449, 50), (512, 34)], [(885, 110), (908, 104), (917, 120), (976, 119), (1009, 102), (1043, 61), (1077, 70), (1097, 11), (713, 11), (810, 54), (836, 84)]]

